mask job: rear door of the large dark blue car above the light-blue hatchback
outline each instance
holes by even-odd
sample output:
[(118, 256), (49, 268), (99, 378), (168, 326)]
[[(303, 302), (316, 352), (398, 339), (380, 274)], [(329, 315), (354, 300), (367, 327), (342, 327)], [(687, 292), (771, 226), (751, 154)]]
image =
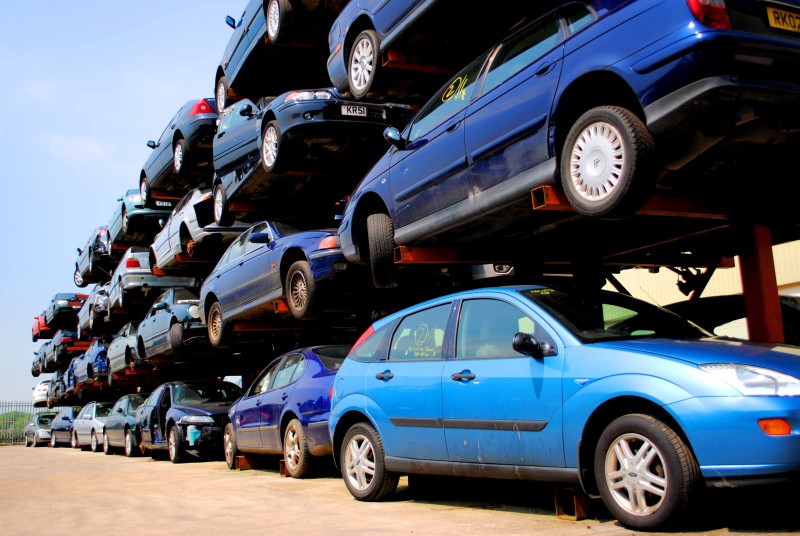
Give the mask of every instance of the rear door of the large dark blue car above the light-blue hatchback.
[[(561, 27), (554, 13), (492, 52), (479, 95), (465, 119), (467, 160), (476, 193), (554, 156), (548, 125), (563, 55)], [(552, 180), (552, 172), (546, 179)]]

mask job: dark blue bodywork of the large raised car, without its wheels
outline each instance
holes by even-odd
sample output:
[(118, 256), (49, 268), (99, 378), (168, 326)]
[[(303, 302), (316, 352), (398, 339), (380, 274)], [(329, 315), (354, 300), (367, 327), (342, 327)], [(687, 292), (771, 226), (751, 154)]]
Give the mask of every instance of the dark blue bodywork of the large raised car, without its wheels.
[[(800, 40), (760, 27), (764, 8), (755, 1), (728, 2), (734, 28), (741, 28), (734, 30), (705, 26), (686, 2), (588, 4), (565, 4), (523, 27), (422, 107), (346, 207), (339, 235), (348, 260), (368, 262), (366, 219), (380, 211), (391, 217), (397, 245), (435, 241), (445, 233), (454, 244), (492, 239), (505, 229), (519, 232), (520, 212), (504, 209), (527, 207), (533, 214), (531, 190), (556, 182), (566, 134), (591, 108), (623, 106), (638, 115), (668, 171), (708, 148), (677, 140), (708, 127), (714, 111), (726, 111), (724, 102), (768, 112), (761, 127), (768, 117), (785, 115), (781, 106), (800, 102)], [(565, 16), (575, 10), (587, 18), (571, 27)], [(540, 41), (534, 29), (543, 26), (549, 37)], [(504, 46), (534, 35), (536, 45), (494, 69)], [(782, 67), (734, 55), (745, 49)], [(488, 218), (491, 225), (481, 226)]]

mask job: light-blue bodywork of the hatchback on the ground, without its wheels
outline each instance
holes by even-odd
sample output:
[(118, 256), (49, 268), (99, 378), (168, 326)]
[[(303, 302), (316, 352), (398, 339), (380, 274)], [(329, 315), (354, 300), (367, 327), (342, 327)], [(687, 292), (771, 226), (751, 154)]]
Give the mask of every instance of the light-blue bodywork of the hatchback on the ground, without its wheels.
[[(548, 301), (549, 296), (557, 299)], [(800, 396), (744, 395), (699, 368), (733, 363), (800, 378), (797, 348), (713, 338), (633, 298), (603, 291), (596, 296), (603, 301), (574, 290), (487, 288), (431, 300), (375, 322), (336, 377), (330, 421), (335, 455), (355, 418), (375, 426), (386, 456), (394, 459), (443, 461), (452, 474), (464, 474), (470, 465), (497, 464), (559, 468), (566, 470), (565, 478), (577, 478), (581, 449), (580, 463), (592, 463), (595, 444), (586, 439), (592, 419), (602, 419), (595, 422), (602, 429), (621, 415), (654, 411), (658, 418), (676, 423), (709, 483), (783, 477), (800, 470)], [(595, 326), (598, 320), (591, 311), (600, 310), (601, 303), (604, 313)], [(519, 331), (531, 331), (553, 351), (541, 358), (526, 357), (511, 349), (513, 331), (506, 333), (508, 329), (496, 324), (485, 333), (479, 331), (491, 328), (493, 313), (487, 304), (513, 308), (523, 318)], [(446, 326), (438, 339), (440, 355), (393, 357), (391, 348), (402, 340), (402, 322), (437, 305), (447, 309), (447, 319), (437, 323)], [(468, 307), (477, 315), (470, 317)], [(623, 321), (609, 319), (615, 307), (636, 314)], [(585, 331), (569, 323), (576, 318)], [(460, 337), (466, 340), (478, 333), (506, 350), (481, 354), (460, 346)], [(381, 380), (376, 378), (379, 372), (394, 377)], [(454, 381), (454, 373), (475, 378)], [(615, 403), (620, 405), (613, 414), (600, 417), (599, 408)], [(759, 428), (759, 419), (778, 417), (790, 423), (790, 435), (768, 436)], [(428, 426), (397, 419), (426, 419)], [(542, 426), (493, 427), (511, 422)], [(426, 471), (419, 467), (419, 472)], [(585, 475), (592, 474), (591, 467), (583, 474), (587, 489), (592, 482), (585, 481)]]

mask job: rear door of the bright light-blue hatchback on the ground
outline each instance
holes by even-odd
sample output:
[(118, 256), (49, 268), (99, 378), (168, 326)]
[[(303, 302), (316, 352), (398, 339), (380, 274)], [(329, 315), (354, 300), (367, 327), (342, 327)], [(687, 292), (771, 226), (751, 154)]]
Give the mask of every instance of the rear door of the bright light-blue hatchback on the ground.
[(367, 369), (367, 412), (388, 456), (447, 460), (441, 377), (451, 307), (447, 302), (403, 318), (388, 358)]

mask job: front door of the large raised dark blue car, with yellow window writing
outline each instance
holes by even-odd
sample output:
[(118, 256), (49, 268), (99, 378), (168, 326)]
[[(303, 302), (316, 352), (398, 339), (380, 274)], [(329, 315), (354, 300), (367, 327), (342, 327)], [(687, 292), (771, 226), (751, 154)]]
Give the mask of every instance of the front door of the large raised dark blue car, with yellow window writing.
[(472, 180), (464, 146), (464, 114), (486, 54), (428, 101), (391, 150), (388, 180), (395, 228), (464, 201)]

